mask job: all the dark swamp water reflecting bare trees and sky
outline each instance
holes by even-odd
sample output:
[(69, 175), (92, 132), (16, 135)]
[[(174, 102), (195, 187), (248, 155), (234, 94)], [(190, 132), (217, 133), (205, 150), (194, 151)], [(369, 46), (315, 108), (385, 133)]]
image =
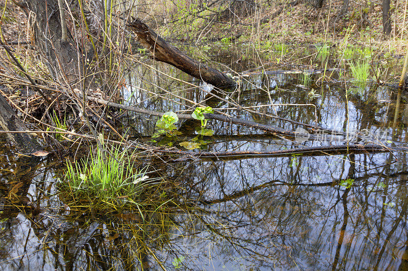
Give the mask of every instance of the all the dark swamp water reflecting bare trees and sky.
[[(234, 66), (238, 58), (217, 61), (236, 71), (248, 70), (247, 63), (241, 64), (244, 68)], [(139, 65), (123, 89), (127, 104), (166, 112), (193, 106), (185, 99), (208, 98), (210, 86), (186, 86), (178, 80), (200, 83), (168, 66), (149, 65), (177, 79)], [(349, 139), (359, 143), (408, 141), (408, 106), (401, 102), (394, 122), (397, 97), (387, 86), (345, 84), (337, 72), (330, 81), (314, 75), (309, 86), (300, 85), (293, 73), (253, 69), (247, 74), (239, 90), (227, 93), (228, 99), (262, 114), (228, 109), (235, 107), (228, 99), (207, 104), (291, 131), (299, 126), (267, 114), (349, 131)], [(122, 122), (130, 128), (127, 133), (143, 142), (151, 139), (156, 123), (154, 117), (132, 113)], [(202, 148), (215, 153), (345, 142), (341, 137), (296, 142), (244, 126), (215, 121), (209, 126), (215, 133)], [(182, 140), (161, 139), (157, 144), (177, 145), (194, 137), (194, 125), (184, 123), (181, 130)], [(359, 132), (374, 139), (353, 139)], [(402, 152), (173, 160), (161, 155), (151, 158), (151, 166), (176, 184), (163, 192), (174, 202), (167, 213), (100, 214), (68, 207), (58, 195), (58, 169), (51, 158), (28, 163), (2, 138), (2, 270), (408, 268), (408, 166)]]

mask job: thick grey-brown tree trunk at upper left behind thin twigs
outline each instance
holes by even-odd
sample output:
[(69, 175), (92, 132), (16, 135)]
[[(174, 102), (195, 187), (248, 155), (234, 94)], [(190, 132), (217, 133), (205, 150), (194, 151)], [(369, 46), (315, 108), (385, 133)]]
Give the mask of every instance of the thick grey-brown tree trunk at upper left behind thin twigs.
[[(72, 28), (78, 29), (78, 31), (73, 35), (68, 33), (67, 37), (63, 36), (61, 25), (66, 23), (61, 23), (60, 6), (61, 8), (65, 7), (59, 6), (58, 0), (27, 0), (24, 5), (22, 8), (27, 16), (29, 13), (34, 13), (29, 18), (32, 18), (36, 48), (45, 58), (51, 76), (61, 83), (69, 84), (72, 89), (73, 87), (80, 88), (85, 94), (85, 89), (89, 87), (88, 84), (94, 83), (94, 80), (89, 80), (92, 78), (91, 76), (87, 78), (84, 63), (84, 59), (92, 59), (92, 57), (87, 56), (85, 49), (86, 39), (90, 37), (90, 34), (85, 33), (84, 29), (82, 29), (83, 32), (80, 32), (80, 27), (83, 25), (80, 22), (80, 25), (75, 28), (77, 22), (74, 22)], [(74, 19), (72, 18), (72, 20)], [(103, 149), (95, 130), (89, 123), (85, 108), (80, 110), (98, 147)], [(101, 152), (101, 155), (105, 161), (104, 152)]]

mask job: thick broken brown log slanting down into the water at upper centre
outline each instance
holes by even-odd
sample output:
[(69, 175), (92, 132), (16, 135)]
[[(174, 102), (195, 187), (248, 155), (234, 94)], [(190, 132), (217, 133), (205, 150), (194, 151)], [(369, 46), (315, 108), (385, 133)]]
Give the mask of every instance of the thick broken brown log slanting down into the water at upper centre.
[(144, 22), (139, 19), (129, 23), (140, 43), (152, 54), (153, 59), (170, 64), (189, 75), (212, 84), (219, 88), (231, 88), (237, 85), (231, 77), (213, 69), (206, 64), (202, 64), (171, 44), (152, 31)]

